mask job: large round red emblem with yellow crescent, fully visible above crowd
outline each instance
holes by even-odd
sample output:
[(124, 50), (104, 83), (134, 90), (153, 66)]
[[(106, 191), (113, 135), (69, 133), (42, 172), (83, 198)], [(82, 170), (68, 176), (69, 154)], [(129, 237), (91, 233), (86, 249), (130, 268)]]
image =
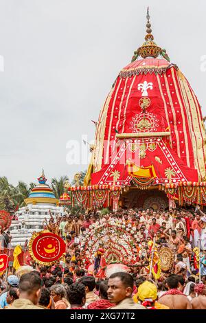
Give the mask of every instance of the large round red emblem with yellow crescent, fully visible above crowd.
[(30, 255), (38, 263), (52, 263), (58, 260), (65, 249), (65, 241), (52, 232), (38, 232), (30, 240)]

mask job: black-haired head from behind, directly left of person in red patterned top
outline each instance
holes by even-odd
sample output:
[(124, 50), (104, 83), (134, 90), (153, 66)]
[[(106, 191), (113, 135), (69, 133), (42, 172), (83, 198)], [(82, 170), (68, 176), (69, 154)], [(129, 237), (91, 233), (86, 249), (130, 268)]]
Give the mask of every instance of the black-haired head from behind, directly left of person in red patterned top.
[(70, 309), (84, 309), (86, 302), (86, 288), (80, 282), (75, 282), (69, 286), (68, 300)]

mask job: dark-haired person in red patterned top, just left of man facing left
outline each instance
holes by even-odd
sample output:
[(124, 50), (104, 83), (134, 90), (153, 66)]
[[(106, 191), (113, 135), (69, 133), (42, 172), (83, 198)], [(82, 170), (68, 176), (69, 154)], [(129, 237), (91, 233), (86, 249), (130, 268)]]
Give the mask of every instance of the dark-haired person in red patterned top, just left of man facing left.
[(110, 307), (113, 307), (113, 304), (108, 300), (107, 290), (108, 281), (102, 280), (102, 282), (100, 282), (100, 299), (91, 302), (87, 309), (109, 309)]

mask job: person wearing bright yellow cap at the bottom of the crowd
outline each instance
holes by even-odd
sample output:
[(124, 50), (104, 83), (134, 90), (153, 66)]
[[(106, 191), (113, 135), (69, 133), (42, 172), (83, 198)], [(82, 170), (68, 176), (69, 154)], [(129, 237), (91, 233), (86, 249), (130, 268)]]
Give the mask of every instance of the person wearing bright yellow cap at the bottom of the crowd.
[(138, 292), (133, 296), (134, 302), (141, 301), (146, 309), (170, 309), (157, 302), (157, 287), (147, 280), (138, 287)]

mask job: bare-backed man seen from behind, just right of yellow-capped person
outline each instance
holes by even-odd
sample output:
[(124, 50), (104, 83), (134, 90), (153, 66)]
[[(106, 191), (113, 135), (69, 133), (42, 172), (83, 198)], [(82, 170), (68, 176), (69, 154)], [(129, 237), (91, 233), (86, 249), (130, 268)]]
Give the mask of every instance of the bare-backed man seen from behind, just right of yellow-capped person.
[(169, 291), (165, 291), (158, 300), (170, 309), (192, 309), (192, 305), (181, 291), (179, 291), (179, 276), (172, 274), (167, 278)]

